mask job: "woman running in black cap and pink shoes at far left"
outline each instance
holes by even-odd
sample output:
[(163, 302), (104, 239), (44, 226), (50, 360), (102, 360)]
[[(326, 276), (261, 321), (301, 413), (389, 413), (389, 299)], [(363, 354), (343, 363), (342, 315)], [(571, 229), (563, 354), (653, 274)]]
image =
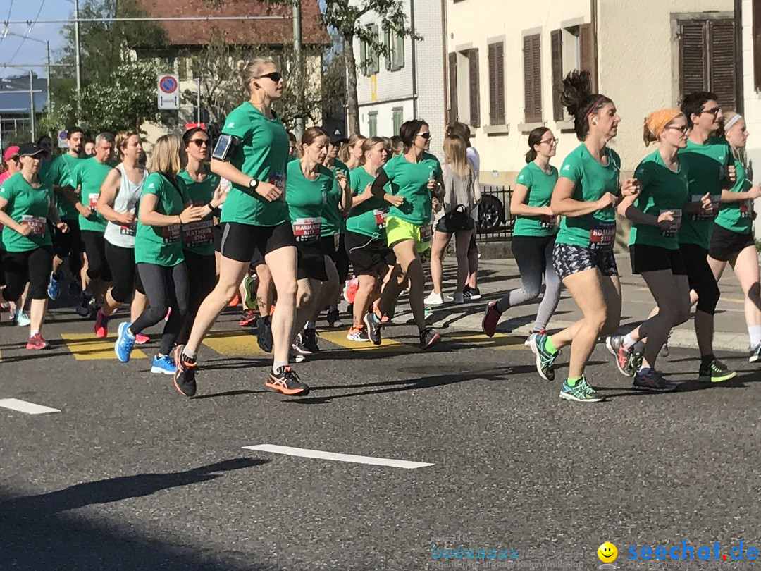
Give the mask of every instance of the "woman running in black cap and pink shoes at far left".
[(21, 171), (0, 183), (0, 224), (5, 247), (3, 271), (5, 301), (16, 301), (29, 282), (30, 332), (27, 349), (46, 349), (42, 337), (47, 308), (47, 284), (53, 268), (53, 241), (47, 221), (62, 232), (68, 231), (61, 222), (53, 199), (53, 190), (43, 185), (37, 174), (42, 164), (43, 150), (34, 143), (24, 143), (18, 149)]

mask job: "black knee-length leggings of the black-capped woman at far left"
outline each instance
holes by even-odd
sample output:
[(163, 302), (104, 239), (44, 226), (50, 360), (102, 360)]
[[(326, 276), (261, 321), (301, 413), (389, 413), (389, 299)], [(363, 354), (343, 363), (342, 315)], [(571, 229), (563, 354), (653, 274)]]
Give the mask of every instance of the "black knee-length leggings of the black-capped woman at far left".
[(5, 301), (16, 301), (29, 282), (30, 299), (47, 299), (47, 286), (53, 270), (53, 246), (41, 246), (26, 252), (5, 252)]

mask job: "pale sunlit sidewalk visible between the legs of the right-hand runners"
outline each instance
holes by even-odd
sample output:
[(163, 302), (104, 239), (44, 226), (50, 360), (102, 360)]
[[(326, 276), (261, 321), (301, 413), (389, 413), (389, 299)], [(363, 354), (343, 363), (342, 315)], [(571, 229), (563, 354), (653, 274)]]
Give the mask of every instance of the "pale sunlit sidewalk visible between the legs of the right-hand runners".
[[(621, 274), (622, 309), (621, 331), (629, 330), (644, 320), (653, 308), (654, 302), (650, 292), (640, 276), (632, 276), (629, 256), (616, 256)], [(444, 260), (444, 299), (454, 291), (457, 267), (451, 258)], [(464, 305), (447, 303), (433, 308), (429, 319), (434, 327), (456, 327), (457, 329), (480, 331), (483, 311), (489, 301), (495, 301), (509, 289), (520, 287), (520, 273), (514, 260), (481, 260), (479, 267), (479, 289), (483, 295), (479, 301)], [(748, 346), (747, 327), (743, 311), (743, 292), (731, 268), (727, 268), (719, 282), (721, 300), (716, 311), (714, 347), (723, 351), (746, 351)], [(430, 281), (425, 294), (430, 292)], [(538, 300), (517, 308), (511, 308), (503, 315), (503, 321), (497, 328), (498, 333), (514, 333), (519, 336), (528, 334), (536, 317)], [(563, 291), (555, 316), (549, 322), (549, 330), (559, 330), (581, 318), (571, 295)], [(694, 321), (673, 330), (669, 340), (670, 346), (697, 347)]]

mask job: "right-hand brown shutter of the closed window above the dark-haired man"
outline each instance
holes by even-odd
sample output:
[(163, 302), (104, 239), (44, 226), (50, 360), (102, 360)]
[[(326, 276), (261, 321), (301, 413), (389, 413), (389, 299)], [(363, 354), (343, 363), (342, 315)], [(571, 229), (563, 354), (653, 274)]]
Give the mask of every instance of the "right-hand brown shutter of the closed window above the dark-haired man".
[(734, 46), (734, 19), (708, 21), (711, 91), (725, 110), (737, 109), (737, 75)]

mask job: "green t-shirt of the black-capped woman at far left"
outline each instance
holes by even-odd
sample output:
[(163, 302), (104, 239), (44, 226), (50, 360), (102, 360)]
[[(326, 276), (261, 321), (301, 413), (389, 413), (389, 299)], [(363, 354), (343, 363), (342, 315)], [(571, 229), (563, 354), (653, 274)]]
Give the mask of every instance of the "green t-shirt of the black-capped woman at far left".
[(6, 251), (27, 252), (53, 244), (47, 222), (50, 205), (53, 204), (50, 187), (43, 183), (40, 188), (33, 188), (18, 172), (2, 182), (0, 198), (8, 200), (4, 209), (7, 215), (15, 222), (32, 227), (32, 233), (28, 236), (22, 236), (8, 226), (3, 227), (2, 243)]

